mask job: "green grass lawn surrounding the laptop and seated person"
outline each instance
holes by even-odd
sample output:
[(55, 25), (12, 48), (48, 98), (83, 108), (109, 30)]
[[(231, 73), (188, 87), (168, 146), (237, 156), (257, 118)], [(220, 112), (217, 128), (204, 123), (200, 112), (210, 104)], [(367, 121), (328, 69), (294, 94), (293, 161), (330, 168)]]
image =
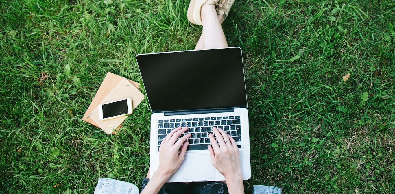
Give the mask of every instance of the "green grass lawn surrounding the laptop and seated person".
[[(107, 71), (141, 83), (135, 55), (194, 49), (188, 4), (0, 0), (0, 193), (141, 187), (148, 101), (115, 136), (81, 118)], [(395, 193), (393, 0), (236, 0), (223, 26), (243, 49), (247, 193)]]

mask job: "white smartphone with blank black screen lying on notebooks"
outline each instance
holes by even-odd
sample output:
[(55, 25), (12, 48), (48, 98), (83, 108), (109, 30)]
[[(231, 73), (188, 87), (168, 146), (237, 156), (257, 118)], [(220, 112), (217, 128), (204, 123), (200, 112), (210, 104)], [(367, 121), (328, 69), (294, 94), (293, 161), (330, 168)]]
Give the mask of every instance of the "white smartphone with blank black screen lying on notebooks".
[(132, 99), (125, 98), (122, 100), (115, 100), (99, 104), (99, 119), (107, 120), (122, 117), (122, 115), (132, 114)]

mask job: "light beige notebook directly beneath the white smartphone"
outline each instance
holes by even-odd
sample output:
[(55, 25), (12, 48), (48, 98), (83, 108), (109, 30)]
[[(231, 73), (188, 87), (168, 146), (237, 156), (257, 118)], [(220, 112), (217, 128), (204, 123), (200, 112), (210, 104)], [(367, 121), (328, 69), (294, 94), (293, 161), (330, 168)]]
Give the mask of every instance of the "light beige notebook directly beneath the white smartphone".
[[(113, 90), (99, 103), (106, 103), (115, 100), (120, 100), (123, 98), (131, 98), (133, 109), (140, 104), (144, 99), (144, 94), (140, 92), (134, 85), (132, 85), (126, 78), (123, 78), (119, 84), (114, 87)], [(131, 115), (133, 116), (133, 114)], [(115, 119), (109, 119), (105, 121), (100, 121), (99, 119), (99, 108), (98, 106), (93, 109), (89, 117), (100, 127), (106, 134), (111, 134), (113, 131), (122, 124), (127, 116), (118, 117)]]

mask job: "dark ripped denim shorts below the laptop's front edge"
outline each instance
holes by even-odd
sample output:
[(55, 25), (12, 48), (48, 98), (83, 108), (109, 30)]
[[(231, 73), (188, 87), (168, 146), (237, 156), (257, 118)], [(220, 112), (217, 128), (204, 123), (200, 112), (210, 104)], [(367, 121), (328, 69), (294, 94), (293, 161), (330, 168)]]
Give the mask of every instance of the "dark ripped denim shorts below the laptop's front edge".
[[(143, 179), (143, 191), (149, 179)], [(187, 183), (165, 183), (158, 194), (229, 194), (226, 183), (216, 182), (193, 182)]]

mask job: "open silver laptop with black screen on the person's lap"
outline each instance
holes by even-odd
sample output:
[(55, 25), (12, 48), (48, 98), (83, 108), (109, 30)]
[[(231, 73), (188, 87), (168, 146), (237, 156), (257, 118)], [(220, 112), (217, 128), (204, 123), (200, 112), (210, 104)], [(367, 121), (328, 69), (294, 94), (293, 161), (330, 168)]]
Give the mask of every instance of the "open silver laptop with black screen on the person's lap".
[(184, 161), (167, 183), (224, 181), (211, 164), (212, 128), (222, 128), (239, 148), (243, 179), (251, 177), (250, 136), (243, 57), (239, 47), (136, 56), (152, 111), (150, 177), (162, 139), (178, 126), (191, 133)]

